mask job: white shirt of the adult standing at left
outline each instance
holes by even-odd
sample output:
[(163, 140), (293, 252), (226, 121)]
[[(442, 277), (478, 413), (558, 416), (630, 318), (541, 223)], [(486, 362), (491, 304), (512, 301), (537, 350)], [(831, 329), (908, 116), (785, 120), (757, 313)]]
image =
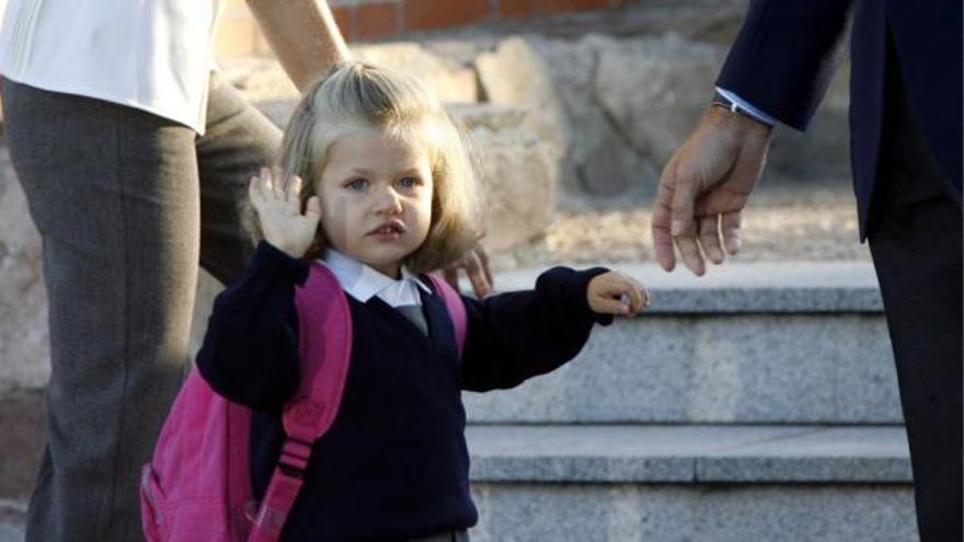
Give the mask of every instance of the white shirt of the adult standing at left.
[(204, 134), (218, 0), (8, 0), (0, 73)]

